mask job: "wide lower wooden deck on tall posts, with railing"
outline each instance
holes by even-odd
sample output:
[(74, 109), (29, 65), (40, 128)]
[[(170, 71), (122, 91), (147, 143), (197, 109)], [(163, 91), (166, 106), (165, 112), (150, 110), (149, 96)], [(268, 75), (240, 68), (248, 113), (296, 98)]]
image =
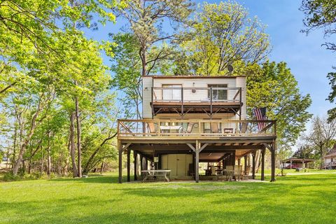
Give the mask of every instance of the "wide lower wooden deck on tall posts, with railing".
[[(158, 154), (184, 153), (195, 155), (196, 167), (199, 162), (219, 162), (228, 156), (232, 162), (249, 153), (255, 155), (255, 151), (258, 150), (265, 153), (265, 149), (269, 149), (272, 153), (272, 181), (274, 181), (276, 121), (118, 120), (118, 149), (119, 162), (123, 153), (127, 153), (129, 158), (130, 151), (139, 153), (152, 162)], [(195, 180), (198, 181), (198, 174), (195, 174)]]

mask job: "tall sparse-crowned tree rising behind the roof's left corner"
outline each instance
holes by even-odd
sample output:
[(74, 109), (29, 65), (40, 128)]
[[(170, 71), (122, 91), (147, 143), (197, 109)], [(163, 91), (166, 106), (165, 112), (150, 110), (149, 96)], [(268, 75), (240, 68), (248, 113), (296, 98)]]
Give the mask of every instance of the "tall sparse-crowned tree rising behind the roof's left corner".
[[(192, 13), (193, 3), (189, 0), (130, 0), (127, 7), (120, 10), (115, 8), (117, 16), (127, 21), (127, 29), (132, 31), (139, 43), (139, 56), (141, 58), (141, 76), (147, 76), (161, 59), (172, 55), (172, 50), (160, 43), (172, 43), (179, 38), (181, 25), (188, 23)], [(165, 30), (162, 28), (165, 24)], [(173, 31), (169, 30), (167, 26)], [(156, 54), (148, 57), (151, 48), (158, 48)]]

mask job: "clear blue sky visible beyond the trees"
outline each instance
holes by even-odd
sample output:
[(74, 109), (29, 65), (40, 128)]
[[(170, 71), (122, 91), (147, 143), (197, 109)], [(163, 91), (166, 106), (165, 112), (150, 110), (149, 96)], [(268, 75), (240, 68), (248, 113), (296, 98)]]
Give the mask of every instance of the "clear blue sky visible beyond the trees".
[[(325, 101), (330, 92), (326, 74), (332, 71), (332, 65), (336, 65), (334, 63), (336, 53), (321, 47), (325, 42), (322, 30), (313, 31), (308, 36), (300, 32), (304, 28), (302, 23), (304, 15), (299, 10), (301, 0), (237, 0), (237, 2), (248, 9), (251, 17), (256, 15), (267, 25), (266, 32), (272, 45), (269, 59), (286, 62), (295, 75), (302, 94), (311, 94), (313, 102), (309, 112), (325, 116), (326, 111), (332, 108), (332, 104)], [(116, 25), (99, 27), (98, 31), (87, 32), (87, 36), (106, 40), (110, 32), (117, 32), (122, 25), (121, 22), (117, 22)], [(106, 62), (109, 63), (108, 59)]]

